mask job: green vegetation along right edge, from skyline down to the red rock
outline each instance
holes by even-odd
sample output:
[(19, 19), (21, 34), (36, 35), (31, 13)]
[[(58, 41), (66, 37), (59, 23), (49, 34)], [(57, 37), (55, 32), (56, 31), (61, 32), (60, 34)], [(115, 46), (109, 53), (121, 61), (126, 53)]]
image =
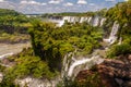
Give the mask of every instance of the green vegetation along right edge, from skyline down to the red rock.
[[(114, 58), (131, 53), (131, 1), (118, 3), (107, 12), (107, 22), (117, 21), (120, 24), (118, 38), (122, 38), (122, 45), (115, 45), (108, 51), (107, 57)], [(112, 24), (112, 23), (110, 23)], [(110, 26), (110, 24), (108, 26)], [(107, 27), (107, 26), (106, 26)]]

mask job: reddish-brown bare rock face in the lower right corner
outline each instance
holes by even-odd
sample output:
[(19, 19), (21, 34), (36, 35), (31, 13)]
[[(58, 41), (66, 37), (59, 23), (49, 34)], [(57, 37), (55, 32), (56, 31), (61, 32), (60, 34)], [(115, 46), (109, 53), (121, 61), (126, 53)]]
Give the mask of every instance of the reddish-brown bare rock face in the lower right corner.
[(131, 54), (105, 60), (91, 70), (81, 71), (75, 78), (79, 85), (87, 84), (87, 79), (97, 84), (93, 87), (131, 87)]

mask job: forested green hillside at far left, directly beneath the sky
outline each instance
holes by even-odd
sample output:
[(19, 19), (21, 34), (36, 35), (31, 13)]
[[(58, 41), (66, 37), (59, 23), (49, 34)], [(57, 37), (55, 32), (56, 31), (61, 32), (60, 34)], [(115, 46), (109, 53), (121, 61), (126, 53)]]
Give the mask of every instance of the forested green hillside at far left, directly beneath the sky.
[(22, 13), (17, 13), (13, 10), (0, 9), (0, 32), (9, 34), (25, 33), (27, 32), (25, 29), (26, 27), (22, 25), (27, 22), (27, 17)]

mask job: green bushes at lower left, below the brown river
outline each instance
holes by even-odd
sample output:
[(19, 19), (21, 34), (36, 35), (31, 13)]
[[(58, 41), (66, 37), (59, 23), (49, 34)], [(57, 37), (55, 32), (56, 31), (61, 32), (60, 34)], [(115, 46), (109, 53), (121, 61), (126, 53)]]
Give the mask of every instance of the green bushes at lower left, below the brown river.
[(50, 72), (47, 62), (41, 61), (39, 57), (34, 57), (31, 48), (24, 49), (9, 60), (15, 62), (15, 65), (2, 71), (4, 76), (0, 87), (17, 87), (14, 85), (14, 80), (26, 76), (51, 79), (57, 75), (57, 72)]

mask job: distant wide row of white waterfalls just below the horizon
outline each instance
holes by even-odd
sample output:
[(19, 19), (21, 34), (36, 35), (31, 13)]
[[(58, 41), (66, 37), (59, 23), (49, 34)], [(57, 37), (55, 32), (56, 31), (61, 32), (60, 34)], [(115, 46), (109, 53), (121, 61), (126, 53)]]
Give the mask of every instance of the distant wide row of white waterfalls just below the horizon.
[(106, 18), (102, 18), (99, 20), (98, 16), (96, 17), (92, 17), (92, 16), (63, 16), (62, 18), (50, 18), (49, 21), (57, 23), (57, 26), (61, 27), (64, 22), (69, 22), (69, 23), (83, 23), (86, 22), (93, 26), (102, 26), (104, 24), (104, 22), (106, 21)]

